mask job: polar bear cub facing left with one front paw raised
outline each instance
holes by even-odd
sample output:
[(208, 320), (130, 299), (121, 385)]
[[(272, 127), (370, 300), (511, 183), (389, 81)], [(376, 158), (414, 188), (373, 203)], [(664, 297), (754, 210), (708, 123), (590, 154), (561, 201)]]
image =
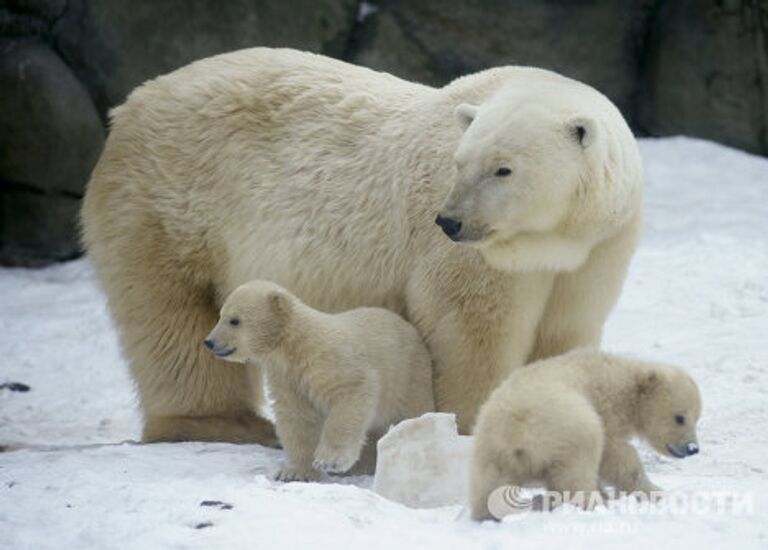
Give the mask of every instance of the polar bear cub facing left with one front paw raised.
[(410, 323), (385, 309), (323, 313), (256, 280), (227, 298), (205, 345), (265, 368), (288, 458), (276, 476), (283, 481), (346, 472), (367, 434), (435, 408), (429, 352)]

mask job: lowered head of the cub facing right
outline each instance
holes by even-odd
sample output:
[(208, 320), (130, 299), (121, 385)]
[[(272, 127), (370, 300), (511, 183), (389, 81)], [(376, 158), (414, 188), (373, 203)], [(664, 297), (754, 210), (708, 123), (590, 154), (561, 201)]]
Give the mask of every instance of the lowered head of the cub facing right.
[(676, 367), (654, 368), (637, 380), (639, 435), (659, 453), (685, 458), (699, 452), (696, 424), (701, 396), (696, 382)]

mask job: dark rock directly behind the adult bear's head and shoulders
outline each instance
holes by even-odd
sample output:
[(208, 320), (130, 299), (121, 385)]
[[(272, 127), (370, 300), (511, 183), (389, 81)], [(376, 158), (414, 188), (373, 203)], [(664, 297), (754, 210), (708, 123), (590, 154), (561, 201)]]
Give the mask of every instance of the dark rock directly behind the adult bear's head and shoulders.
[[(655, 0), (386, 0), (355, 59), (444, 83), (500, 65), (544, 67), (631, 109)], [(426, 77), (426, 78), (425, 78)]]

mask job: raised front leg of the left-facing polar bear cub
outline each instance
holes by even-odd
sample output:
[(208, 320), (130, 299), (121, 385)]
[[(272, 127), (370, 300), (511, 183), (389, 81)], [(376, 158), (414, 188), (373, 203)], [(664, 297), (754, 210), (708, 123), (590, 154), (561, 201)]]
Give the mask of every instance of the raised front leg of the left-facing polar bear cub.
[(369, 381), (331, 405), (323, 425), (313, 466), (324, 472), (342, 473), (360, 458), (374, 415), (375, 392)]

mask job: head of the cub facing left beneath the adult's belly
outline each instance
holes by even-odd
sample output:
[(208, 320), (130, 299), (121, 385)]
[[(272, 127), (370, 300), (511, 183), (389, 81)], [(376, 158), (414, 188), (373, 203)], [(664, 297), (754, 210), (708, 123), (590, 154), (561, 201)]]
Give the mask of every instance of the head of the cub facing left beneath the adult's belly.
[(251, 281), (224, 302), (219, 322), (203, 342), (217, 357), (239, 363), (274, 350), (290, 320), (293, 302), (280, 286)]

